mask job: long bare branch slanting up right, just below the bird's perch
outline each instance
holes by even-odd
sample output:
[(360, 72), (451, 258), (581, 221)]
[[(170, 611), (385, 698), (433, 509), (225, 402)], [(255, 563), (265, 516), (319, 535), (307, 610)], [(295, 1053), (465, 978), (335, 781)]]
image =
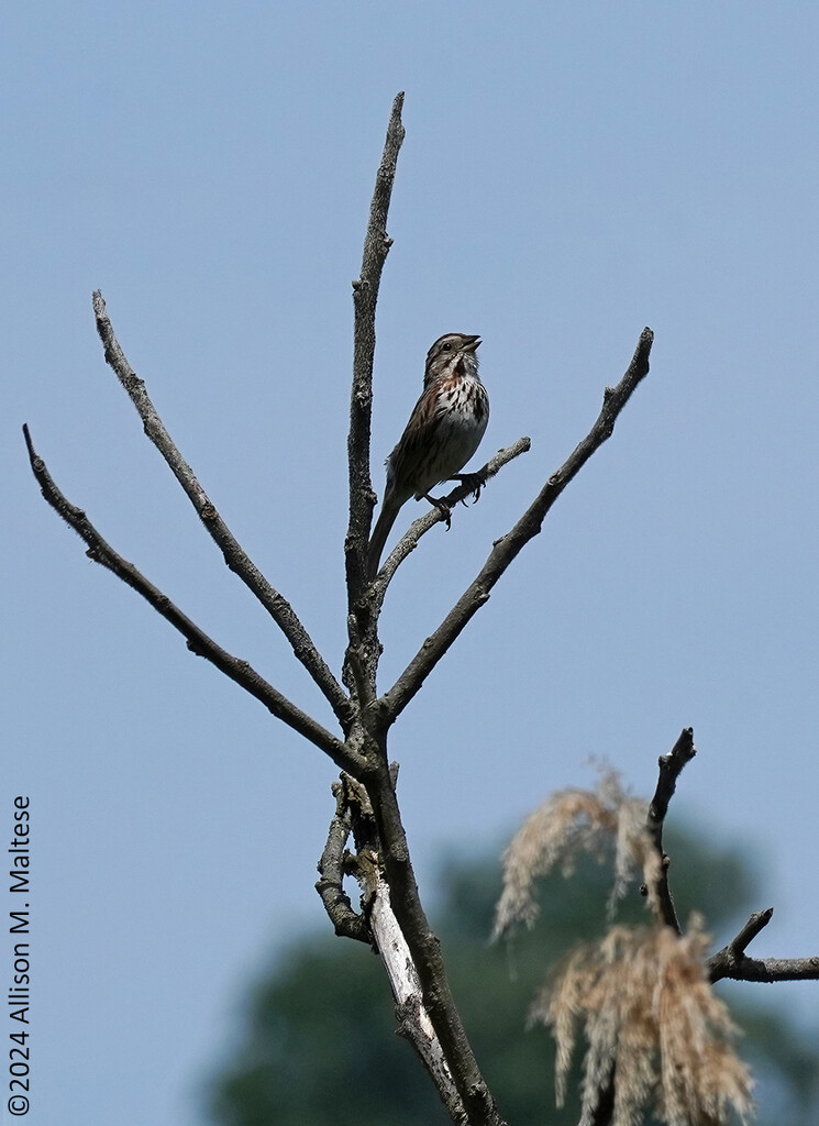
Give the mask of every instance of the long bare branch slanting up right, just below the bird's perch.
[(490, 591), (521, 548), (540, 531), (543, 520), (564, 491), (577, 476), (590, 457), (611, 437), (614, 423), (641, 379), (648, 375), (648, 358), (654, 333), (644, 329), (633, 358), (616, 387), (606, 387), (603, 409), (588, 435), (554, 473), (533, 503), (510, 533), (496, 540), (477, 578), (458, 599), (434, 633), (428, 637), (395, 685), (378, 700), (379, 720), (386, 726), (394, 723), (420, 690), (450, 645), (470, 618), (488, 601)]

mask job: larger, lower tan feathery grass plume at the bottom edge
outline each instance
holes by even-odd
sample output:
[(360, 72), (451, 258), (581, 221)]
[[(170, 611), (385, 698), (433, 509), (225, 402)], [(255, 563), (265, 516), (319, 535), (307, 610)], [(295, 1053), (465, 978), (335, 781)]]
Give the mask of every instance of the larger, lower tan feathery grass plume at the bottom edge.
[(731, 1045), (737, 1030), (705, 975), (708, 942), (698, 918), (683, 936), (664, 926), (612, 927), (551, 975), (531, 1017), (557, 1042), (559, 1105), (583, 1028), (582, 1126), (612, 1067), (612, 1126), (638, 1126), (649, 1108), (668, 1126), (716, 1126), (729, 1107), (747, 1121), (753, 1083)]

